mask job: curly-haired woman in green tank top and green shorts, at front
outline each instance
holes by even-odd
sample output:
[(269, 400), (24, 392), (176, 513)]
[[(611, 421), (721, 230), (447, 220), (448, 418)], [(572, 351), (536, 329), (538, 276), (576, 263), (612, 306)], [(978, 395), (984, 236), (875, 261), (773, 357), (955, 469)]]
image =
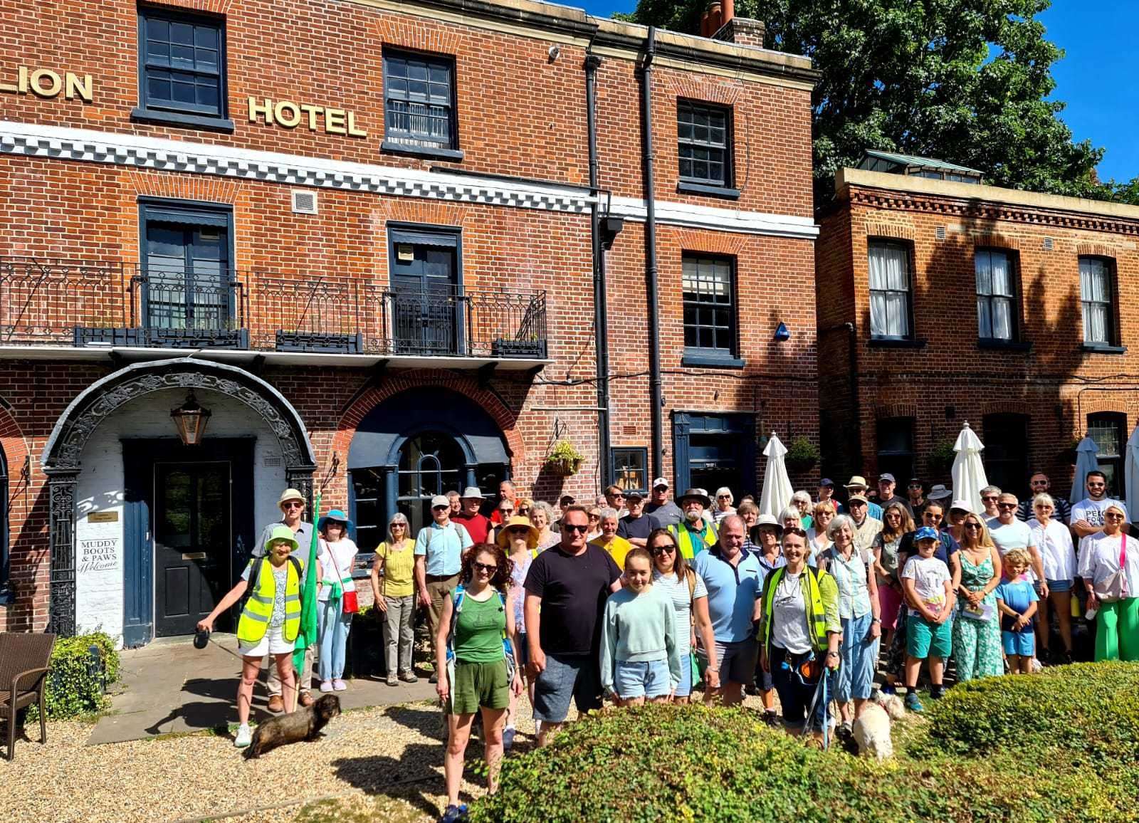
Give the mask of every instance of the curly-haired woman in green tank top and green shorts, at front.
[(511, 659), (518, 639), (509, 590), (513, 571), (514, 564), (500, 546), (472, 546), (462, 555), (458, 587), (443, 601), (435, 635), (435, 666), (440, 673), (435, 691), (448, 714), (444, 821), (466, 818), (467, 807), (459, 805), (459, 787), (476, 711), (483, 716), (486, 789), (494, 793), (498, 788), (510, 693), (522, 693), (522, 678)]

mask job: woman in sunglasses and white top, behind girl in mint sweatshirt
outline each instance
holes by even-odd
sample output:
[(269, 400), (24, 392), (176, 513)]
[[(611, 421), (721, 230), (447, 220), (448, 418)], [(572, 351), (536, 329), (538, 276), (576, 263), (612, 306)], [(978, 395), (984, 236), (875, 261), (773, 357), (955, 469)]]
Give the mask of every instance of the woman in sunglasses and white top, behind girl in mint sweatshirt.
[(711, 698), (720, 687), (720, 665), (715, 659), (715, 636), (708, 617), (707, 587), (680, 554), (677, 538), (667, 529), (655, 529), (648, 536), (648, 553), (653, 556), (653, 585), (669, 596), (677, 614), (680, 684), (673, 693), (673, 701), (687, 703), (691, 698), (695, 679), (693, 644), (697, 642), (697, 635), (700, 646), (711, 650), (708, 666), (704, 670), (707, 683), (705, 695)]

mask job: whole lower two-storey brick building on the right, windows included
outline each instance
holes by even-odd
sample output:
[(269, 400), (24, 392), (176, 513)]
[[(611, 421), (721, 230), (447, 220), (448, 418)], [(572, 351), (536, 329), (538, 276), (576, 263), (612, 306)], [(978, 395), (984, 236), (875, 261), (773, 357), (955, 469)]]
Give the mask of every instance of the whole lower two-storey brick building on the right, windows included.
[[(1068, 494), (1085, 433), (1124, 495), (1139, 424), (1139, 209), (909, 160), (909, 174), (842, 170), (820, 214), (825, 471), (948, 483), (932, 455), (967, 421), (990, 481), (1022, 499), (1033, 471)], [(921, 176), (942, 172), (959, 180)]]

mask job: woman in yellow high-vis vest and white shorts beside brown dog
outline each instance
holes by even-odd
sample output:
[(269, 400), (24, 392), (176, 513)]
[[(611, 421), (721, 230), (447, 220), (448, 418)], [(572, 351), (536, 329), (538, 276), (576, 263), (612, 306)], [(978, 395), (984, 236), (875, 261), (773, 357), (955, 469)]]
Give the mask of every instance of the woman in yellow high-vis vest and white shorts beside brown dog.
[[(241, 681), (237, 686), (237, 717), (240, 726), (233, 744), (244, 748), (252, 741), (249, 703), (261, 660), (272, 654), (281, 678), (285, 711), (296, 708), (293, 674), (293, 644), (301, 628), (301, 561), (293, 556), (296, 538), (287, 525), (278, 525), (267, 541), (264, 557), (254, 557), (241, 579), (198, 624), (199, 631), (212, 631), (214, 620), (240, 600), (252, 587), (237, 621), (237, 647), (241, 653)], [(251, 582), (252, 580), (252, 582)]]

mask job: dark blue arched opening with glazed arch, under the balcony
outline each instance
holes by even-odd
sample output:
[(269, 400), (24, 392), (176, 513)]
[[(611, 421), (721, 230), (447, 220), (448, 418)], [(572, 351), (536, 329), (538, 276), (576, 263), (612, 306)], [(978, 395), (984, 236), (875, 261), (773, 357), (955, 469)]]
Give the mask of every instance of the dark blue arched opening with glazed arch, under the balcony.
[(411, 532), (431, 522), (431, 498), (477, 486), (491, 497), (509, 473), (502, 433), (462, 394), (434, 386), (411, 389), (374, 408), (349, 448), (352, 520), (361, 551), (385, 537), (395, 512)]

